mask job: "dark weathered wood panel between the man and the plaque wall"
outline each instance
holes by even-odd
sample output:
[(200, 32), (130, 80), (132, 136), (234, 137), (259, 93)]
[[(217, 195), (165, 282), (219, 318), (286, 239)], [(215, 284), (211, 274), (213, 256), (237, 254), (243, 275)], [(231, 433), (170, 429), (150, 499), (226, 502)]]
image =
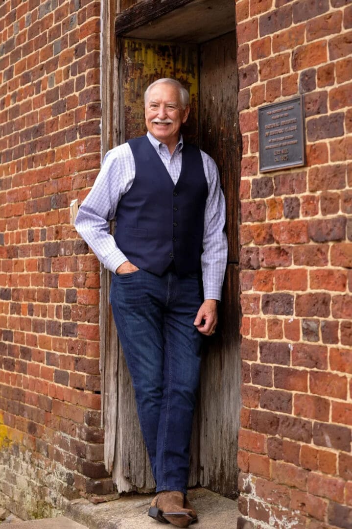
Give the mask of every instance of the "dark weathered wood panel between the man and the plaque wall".
[[(229, 260), (238, 261), (237, 67), (235, 33), (201, 45), (201, 148), (219, 167), (227, 203)], [(227, 267), (219, 325), (202, 363), (200, 483), (236, 496), (240, 411), (238, 266)]]

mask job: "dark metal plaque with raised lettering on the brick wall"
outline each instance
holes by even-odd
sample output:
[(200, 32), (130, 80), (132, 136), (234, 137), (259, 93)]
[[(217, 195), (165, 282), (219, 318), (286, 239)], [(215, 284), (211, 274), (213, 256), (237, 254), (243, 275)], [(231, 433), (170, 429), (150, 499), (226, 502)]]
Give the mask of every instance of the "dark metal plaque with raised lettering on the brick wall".
[(258, 125), (261, 172), (304, 165), (302, 96), (258, 108)]

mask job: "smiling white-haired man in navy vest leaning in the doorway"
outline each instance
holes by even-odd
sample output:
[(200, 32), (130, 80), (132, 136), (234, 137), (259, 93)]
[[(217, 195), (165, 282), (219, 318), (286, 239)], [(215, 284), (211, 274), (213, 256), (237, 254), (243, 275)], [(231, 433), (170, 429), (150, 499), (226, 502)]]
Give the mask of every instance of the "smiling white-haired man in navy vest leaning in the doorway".
[(158, 493), (149, 515), (178, 527), (197, 521), (186, 497), (189, 444), (202, 337), (216, 329), (227, 258), (218, 171), (183, 143), (188, 114), (178, 81), (150, 85), (147, 135), (106, 154), (76, 220), (114, 272), (110, 303)]

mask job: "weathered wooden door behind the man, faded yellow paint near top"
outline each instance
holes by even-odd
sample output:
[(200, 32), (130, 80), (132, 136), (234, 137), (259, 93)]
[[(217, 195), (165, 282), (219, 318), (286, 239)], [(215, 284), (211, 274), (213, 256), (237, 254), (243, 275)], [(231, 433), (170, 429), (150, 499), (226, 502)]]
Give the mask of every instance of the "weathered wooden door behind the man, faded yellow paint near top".
[[(233, 2), (227, 3), (234, 10)], [(199, 0), (195, 4), (199, 7)], [(225, 4), (225, 0), (221, 2)], [(234, 25), (233, 22), (233, 28)], [(165, 31), (164, 24), (162, 27)], [(240, 409), (236, 35), (234, 31), (221, 35), (217, 28), (216, 38), (207, 40), (209, 24), (207, 28), (203, 36), (199, 30), (196, 42), (192, 42), (192, 32), (183, 35), (182, 42), (147, 41), (133, 36), (118, 40), (116, 143), (145, 133), (142, 99), (145, 88), (153, 80), (175, 77), (189, 89), (191, 115), (183, 133), (217, 162), (227, 202), (229, 240), (229, 263), (218, 331), (208, 340), (203, 353), (189, 485), (200, 484), (235, 497)], [(105, 286), (107, 289), (107, 279)], [(131, 380), (110, 318), (111, 315), (104, 319), (107, 353), (102, 362), (106, 464), (113, 470), (119, 491), (147, 491), (154, 487), (154, 481), (137, 421)]]

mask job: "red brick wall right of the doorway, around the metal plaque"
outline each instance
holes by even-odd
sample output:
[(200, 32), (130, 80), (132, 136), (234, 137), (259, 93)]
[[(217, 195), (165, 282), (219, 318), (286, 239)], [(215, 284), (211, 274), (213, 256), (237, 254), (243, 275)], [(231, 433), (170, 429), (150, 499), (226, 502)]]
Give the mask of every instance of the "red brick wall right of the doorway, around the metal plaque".
[[(240, 0), (236, 14), (237, 527), (352, 527), (352, 5)], [(260, 174), (257, 108), (297, 94), (305, 101), (307, 166)]]

